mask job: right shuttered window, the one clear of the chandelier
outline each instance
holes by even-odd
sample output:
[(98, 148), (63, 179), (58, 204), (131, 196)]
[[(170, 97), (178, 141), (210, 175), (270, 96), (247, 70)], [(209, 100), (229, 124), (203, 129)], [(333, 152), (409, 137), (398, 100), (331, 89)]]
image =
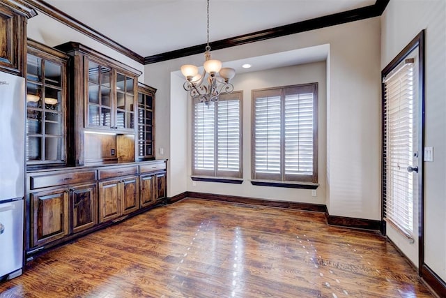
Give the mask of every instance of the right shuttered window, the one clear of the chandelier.
[(252, 179), (317, 183), (318, 84), (252, 91)]

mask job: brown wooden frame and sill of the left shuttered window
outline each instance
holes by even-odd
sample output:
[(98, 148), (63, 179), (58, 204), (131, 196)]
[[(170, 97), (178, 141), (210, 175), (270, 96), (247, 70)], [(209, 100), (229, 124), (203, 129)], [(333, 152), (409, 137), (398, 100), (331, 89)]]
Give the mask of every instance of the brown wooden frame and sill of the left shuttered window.
[[(238, 172), (235, 171), (225, 171), (225, 170), (219, 170), (218, 169), (218, 124), (217, 124), (217, 113), (218, 113), (218, 103), (220, 101), (225, 100), (233, 100), (237, 99), (239, 101), (239, 156), (238, 156), (238, 163), (239, 168)], [(210, 103), (210, 105), (217, 105), (217, 109), (214, 110), (214, 116), (215, 116), (215, 125), (214, 125), (214, 169), (213, 170), (196, 170), (195, 169), (195, 105), (199, 103), (198, 100), (192, 99), (192, 180), (195, 181), (214, 181), (217, 180), (217, 182), (222, 182), (225, 180), (231, 180), (238, 181), (238, 179), (243, 179), (243, 91), (233, 91), (231, 94), (220, 94), (220, 98), (216, 103)], [(203, 177), (203, 179), (199, 179), (199, 177)], [(229, 183), (235, 183), (235, 182), (229, 182)], [(238, 183), (238, 182), (237, 182)]]

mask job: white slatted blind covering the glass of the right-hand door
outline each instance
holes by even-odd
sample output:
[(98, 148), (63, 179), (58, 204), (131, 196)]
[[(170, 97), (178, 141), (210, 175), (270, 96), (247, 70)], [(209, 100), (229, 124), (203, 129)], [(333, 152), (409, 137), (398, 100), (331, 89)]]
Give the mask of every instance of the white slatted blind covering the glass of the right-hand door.
[[(413, 234), (414, 59), (406, 59), (384, 80), (384, 218)], [(415, 146), (415, 147), (414, 147)], [(416, 186), (415, 186), (416, 187)]]

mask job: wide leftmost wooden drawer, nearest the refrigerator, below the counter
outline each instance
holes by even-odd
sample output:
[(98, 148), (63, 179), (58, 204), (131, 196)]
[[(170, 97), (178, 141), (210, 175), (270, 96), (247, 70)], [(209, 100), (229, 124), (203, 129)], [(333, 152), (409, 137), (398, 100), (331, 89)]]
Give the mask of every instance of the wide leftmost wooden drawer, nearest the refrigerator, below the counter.
[(50, 186), (59, 186), (64, 184), (77, 184), (84, 182), (93, 182), (96, 180), (96, 171), (45, 174), (42, 176), (31, 176), (30, 188), (43, 188)]

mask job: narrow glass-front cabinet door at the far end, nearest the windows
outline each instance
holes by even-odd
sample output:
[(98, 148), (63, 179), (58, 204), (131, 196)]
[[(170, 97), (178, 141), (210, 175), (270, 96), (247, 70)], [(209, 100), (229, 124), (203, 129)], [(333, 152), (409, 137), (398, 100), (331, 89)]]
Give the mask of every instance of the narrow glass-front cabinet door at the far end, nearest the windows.
[(138, 83), (137, 154), (139, 160), (155, 157), (155, 89)]

